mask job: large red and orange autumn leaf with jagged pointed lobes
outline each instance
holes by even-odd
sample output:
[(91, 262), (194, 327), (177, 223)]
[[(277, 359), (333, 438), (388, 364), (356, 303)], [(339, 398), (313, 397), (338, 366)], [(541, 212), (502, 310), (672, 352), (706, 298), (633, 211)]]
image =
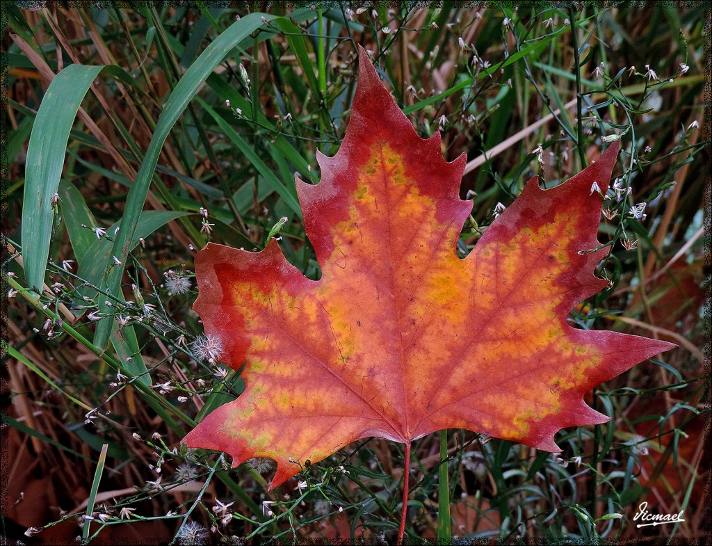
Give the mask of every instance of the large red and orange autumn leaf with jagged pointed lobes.
[[(209, 414), (189, 447), (233, 465), (274, 459), (271, 488), (368, 436), (409, 443), (457, 428), (559, 451), (554, 434), (607, 417), (583, 396), (671, 343), (577, 330), (570, 310), (606, 282), (594, 269), (602, 197), (618, 145), (558, 187), (536, 177), (469, 255), (466, 157), (422, 140), (363, 51), (345, 139), (318, 154), (321, 182), (297, 180), (322, 269), (310, 280), (271, 240), (258, 253), (209, 243), (194, 309), (241, 396)], [(296, 461), (296, 462), (293, 462)]]

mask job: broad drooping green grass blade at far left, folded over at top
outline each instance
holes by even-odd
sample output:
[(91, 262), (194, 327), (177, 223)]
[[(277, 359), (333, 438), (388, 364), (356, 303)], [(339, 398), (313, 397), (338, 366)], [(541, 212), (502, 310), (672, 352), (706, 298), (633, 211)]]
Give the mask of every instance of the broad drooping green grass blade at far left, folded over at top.
[(27, 147), (22, 207), (22, 256), (30, 288), (41, 291), (69, 132), (79, 105), (103, 66), (69, 65), (52, 80), (37, 111)]

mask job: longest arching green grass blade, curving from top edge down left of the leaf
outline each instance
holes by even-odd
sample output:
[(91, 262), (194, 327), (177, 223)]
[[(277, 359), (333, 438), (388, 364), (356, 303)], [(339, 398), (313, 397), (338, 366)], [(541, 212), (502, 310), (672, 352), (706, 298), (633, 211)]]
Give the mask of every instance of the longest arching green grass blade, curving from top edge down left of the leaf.
[[(274, 19), (274, 15), (253, 13), (244, 16), (233, 23), (220, 36), (218, 36), (201, 53), (197, 60), (186, 71), (169, 96), (165, 108), (159, 117), (155, 133), (146, 151), (135, 182), (126, 198), (124, 216), (121, 220), (121, 229), (114, 241), (113, 256), (117, 256), (121, 263), (125, 263), (130, 251), (130, 242), (136, 231), (138, 219), (143, 205), (148, 196), (148, 190), (158, 163), (159, 154), (168, 134), (177, 122), (180, 115), (194, 98), (196, 93), (205, 83), (210, 73), (227, 56), (238, 43), (247, 38), (253, 31), (263, 25), (263, 20)], [(107, 287), (111, 294), (117, 295), (121, 290), (121, 278), (124, 266), (113, 268), (109, 275)], [(103, 308), (102, 310), (106, 310)], [(111, 317), (100, 320), (94, 337), (95, 345), (105, 347), (112, 330)]]

